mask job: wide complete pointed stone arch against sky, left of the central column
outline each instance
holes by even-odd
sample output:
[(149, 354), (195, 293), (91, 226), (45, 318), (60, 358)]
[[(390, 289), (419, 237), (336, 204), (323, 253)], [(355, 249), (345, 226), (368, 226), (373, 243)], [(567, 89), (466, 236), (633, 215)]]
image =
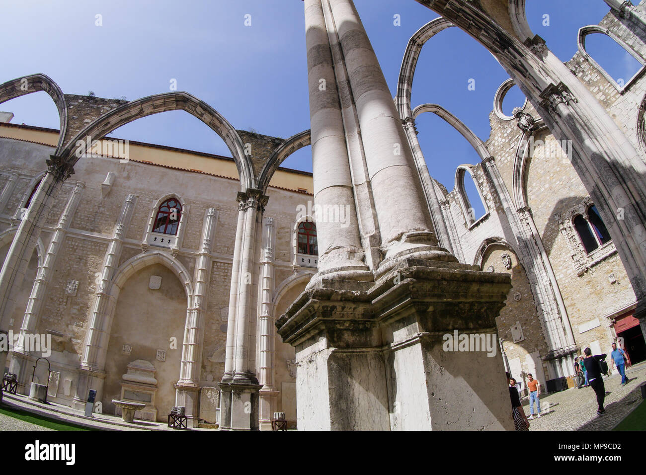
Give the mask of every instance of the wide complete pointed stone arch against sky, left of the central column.
[(242, 191), (253, 188), (254, 173), (249, 157), (244, 153), (244, 143), (236, 129), (213, 107), (188, 92), (165, 92), (130, 101), (107, 112), (78, 132), (67, 142), (60, 155), (65, 162), (74, 165), (81, 155), (88, 152), (86, 138), (99, 140), (106, 134), (134, 120), (167, 111), (185, 111), (211, 127), (229, 147), (240, 175)]

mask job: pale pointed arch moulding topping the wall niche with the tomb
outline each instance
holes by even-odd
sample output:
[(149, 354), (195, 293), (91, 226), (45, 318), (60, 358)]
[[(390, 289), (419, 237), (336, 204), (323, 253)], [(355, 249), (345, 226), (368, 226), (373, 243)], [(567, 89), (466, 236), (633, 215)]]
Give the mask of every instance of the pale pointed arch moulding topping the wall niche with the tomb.
[[(129, 260), (121, 264), (117, 269), (114, 277), (112, 278), (112, 285), (108, 295), (110, 299), (116, 301), (123, 285), (127, 282), (134, 273), (141, 269), (151, 266), (152, 264), (161, 264), (171, 269), (176, 275), (182, 286), (186, 291), (187, 308), (191, 308), (193, 304), (193, 282), (191, 280), (189, 271), (183, 266), (182, 262), (172, 259), (171, 256), (163, 251), (147, 251), (146, 253), (131, 257)], [(114, 311), (114, 307), (112, 308)]]

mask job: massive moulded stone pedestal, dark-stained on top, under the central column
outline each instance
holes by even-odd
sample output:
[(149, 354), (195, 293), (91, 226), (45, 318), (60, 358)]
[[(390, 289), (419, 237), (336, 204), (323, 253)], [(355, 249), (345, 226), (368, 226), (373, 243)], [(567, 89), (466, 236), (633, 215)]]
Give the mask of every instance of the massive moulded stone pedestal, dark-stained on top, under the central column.
[[(509, 276), (436, 264), (402, 259), (349, 288), (322, 279), (278, 319), (296, 347), (299, 429), (513, 430), (495, 328)], [(458, 351), (454, 335), (490, 351)]]

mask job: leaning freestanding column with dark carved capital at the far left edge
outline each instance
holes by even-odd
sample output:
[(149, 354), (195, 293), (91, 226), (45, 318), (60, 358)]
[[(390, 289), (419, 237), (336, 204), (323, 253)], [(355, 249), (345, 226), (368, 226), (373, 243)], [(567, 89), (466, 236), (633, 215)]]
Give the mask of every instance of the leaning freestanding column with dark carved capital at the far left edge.
[[(0, 271), (0, 333), (6, 333), (8, 321), (16, 302), (12, 296), (25, 279), (29, 259), (40, 237), (41, 229), (47, 215), (54, 205), (54, 200), (63, 182), (74, 173), (72, 165), (62, 162), (57, 156), (47, 160), (48, 170), (43, 176), (36, 193), (32, 198), (28, 211), (18, 226), (16, 236), (6, 255)], [(6, 364), (7, 352), (0, 352), (0, 368)]]

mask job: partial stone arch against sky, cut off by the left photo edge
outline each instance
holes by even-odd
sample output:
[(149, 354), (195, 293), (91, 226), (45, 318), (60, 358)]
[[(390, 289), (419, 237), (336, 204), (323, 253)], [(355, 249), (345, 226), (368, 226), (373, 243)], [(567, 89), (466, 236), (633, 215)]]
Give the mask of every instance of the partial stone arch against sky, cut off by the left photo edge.
[[(27, 84), (26, 90), (24, 90), (25, 83)], [(37, 73), (0, 84), (0, 104), (41, 90), (49, 94), (56, 105), (56, 109), (58, 109), (61, 130), (59, 131), (56, 151), (54, 151), (54, 154), (57, 155), (63, 148), (65, 136), (67, 135), (67, 101), (61, 88), (51, 78), (45, 76), (45, 74)]]

